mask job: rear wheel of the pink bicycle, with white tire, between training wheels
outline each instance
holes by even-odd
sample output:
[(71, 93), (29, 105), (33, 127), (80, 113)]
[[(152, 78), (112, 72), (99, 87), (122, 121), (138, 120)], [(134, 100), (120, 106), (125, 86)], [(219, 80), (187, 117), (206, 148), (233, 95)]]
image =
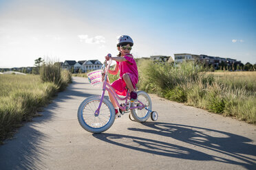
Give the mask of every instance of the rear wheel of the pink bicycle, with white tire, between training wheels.
[[(145, 121), (147, 121), (147, 119), (149, 119), (150, 114), (151, 114), (151, 111), (149, 111), (149, 110), (152, 110), (151, 99), (145, 91), (138, 91), (137, 95), (138, 95), (138, 101), (142, 102), (142, 104), (145, 105), (145, 108), (132, 109), (131, 110), (131, 115), (132, 115), (132, 117), (134, 117), (135, 121), (145, 122)], [(133, 106), (140, 106), (141, 104), (138, 101), (134, 102), (134, 104), (131, 104), (131, 106), (132, 107)]]

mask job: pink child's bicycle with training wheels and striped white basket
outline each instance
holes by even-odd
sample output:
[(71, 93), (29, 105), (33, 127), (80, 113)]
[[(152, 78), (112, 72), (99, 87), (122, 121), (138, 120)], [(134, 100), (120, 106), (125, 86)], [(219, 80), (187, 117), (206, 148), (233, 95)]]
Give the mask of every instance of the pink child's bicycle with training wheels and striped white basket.
[[(105, 132), (113, 125), (116, 119), (116, 112), (111, 101), (104, 97), (106, 90), (114, 96), (120, 114), (123, 115), (126, 112), (131, 112), (129, 119), (140, 123), (147, 121), (150, 116), (152, 121), (157, 121), (158, 113), (151, 111), (151, 99), (145, 91), (140, 90), (137, 92), (138, 99), (136, 101), (129, 100), (129, 90), (126, 97), (119, 97), (116, 94), (114, 88), (107, 81), (111, 62), (111, 59), (108, 62), (105, 60), (100, 70), (87, 73), (89, 82), (93, 86), (102, 83), (103, 90), (101, 96), (93, 95), (88, 97), (79, 106), (78, 121), (80, 125), (88, 132), (95, 134)], [(118, 100), (125, 101), (125, 103), (119, 104)]]

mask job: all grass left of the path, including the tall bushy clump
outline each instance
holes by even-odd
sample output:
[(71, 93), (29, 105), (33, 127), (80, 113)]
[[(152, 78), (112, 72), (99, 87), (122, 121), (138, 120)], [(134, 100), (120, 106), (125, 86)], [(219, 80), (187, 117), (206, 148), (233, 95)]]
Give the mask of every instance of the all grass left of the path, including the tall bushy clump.
[(40, 73), (0, 75), (0, 143), (71, 82), (70, 72), (53, 64), (41, 66)]

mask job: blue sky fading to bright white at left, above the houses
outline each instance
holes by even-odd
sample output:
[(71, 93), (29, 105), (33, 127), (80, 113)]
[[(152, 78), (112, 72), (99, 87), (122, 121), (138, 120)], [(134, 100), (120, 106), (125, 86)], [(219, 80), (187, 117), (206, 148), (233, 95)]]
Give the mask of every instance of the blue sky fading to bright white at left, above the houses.
[(103, 62), (116, 37), (136, 58), (205, 54), (256, 62), (256, 1), (0, 0), (0, 68), (36, 58)]

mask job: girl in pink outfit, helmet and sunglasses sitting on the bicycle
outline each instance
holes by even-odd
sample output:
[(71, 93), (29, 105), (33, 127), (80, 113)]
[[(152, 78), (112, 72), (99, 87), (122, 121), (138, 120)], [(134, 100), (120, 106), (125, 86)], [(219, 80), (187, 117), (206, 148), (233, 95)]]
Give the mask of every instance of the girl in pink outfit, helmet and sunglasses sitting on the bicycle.
[[(112, 57), (112, 60), (116, 61), (115, 69), (109, 70), (109, 73), (116, 75), (120, 71), (120, 78), (113, 82), (111, 86), (116, 90), (118, 95), (127, 95), (127, 88), (130, 90), (130, 100), (137, 99), (137, 93), (135, 92), (136, 84), (138, 83), (138, 69), (134, 60), (134, 56), (131, 55), (131, 47), (134, 45), (134, 41), (129, 36), (120, 36), (117, 41), (117, 49), (119, 51), (118, 56)], [(109, 60), (109, 56), (105, 56), (106, 60)], [(113, 104), (116, 114), (118, 114), (118, 106), (114, 101), (114, 96), (109, 93), (109, 99)]]

